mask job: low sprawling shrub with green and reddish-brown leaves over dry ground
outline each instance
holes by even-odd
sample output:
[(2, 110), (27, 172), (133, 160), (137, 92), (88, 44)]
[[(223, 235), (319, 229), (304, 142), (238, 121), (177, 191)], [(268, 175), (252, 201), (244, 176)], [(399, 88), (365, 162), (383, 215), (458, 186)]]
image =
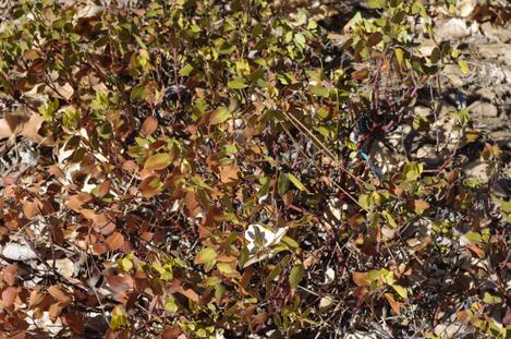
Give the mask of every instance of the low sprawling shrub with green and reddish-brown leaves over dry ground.
[(375, 155), (405, 123), (435, 135), (413, 107), (466, 63), (419, 53), (422, 1), (367, 7), (340, 34), (264, 0), (21, 1), (0, 90), (45, 143), (2, 181), (1, 242), (34, 254), (3, 253), (4, 336), (509, 335), (498, 146), (462, 110), (486, 183), (438, 137), (435, 166), (400, 143), (393, 165)]

